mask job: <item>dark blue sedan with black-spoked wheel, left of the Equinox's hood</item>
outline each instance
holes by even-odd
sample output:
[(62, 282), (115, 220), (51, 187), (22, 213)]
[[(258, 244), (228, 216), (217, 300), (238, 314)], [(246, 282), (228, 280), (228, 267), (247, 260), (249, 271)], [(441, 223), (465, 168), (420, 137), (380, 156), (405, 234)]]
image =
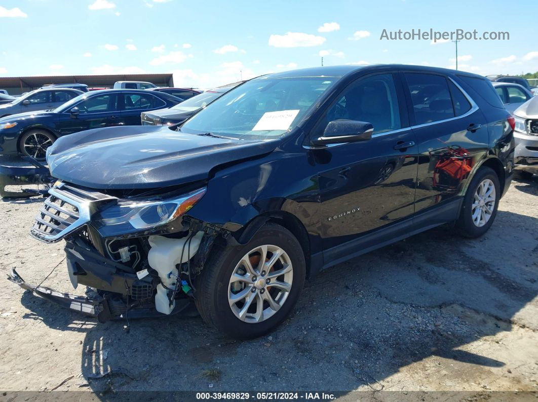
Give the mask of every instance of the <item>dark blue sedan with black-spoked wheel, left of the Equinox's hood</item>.
[(164, 92), (86, 92), (56, 109), (0, 119), (0, 154), (44, 160), (56, 138), (90, 128), (139, 126), (140, 112), (171, 107), (180, 99)]

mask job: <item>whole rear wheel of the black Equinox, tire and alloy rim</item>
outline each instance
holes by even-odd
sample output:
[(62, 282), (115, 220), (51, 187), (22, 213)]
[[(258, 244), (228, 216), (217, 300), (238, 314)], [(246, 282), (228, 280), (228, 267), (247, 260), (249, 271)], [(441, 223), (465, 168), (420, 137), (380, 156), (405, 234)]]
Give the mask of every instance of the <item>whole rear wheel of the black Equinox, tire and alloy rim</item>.
[(465, 193), (457, 221), (462, 235), (479, 237), (490, 229), (497, 216), (500, 195), (497, 173), (490, 167), (480, 167)]

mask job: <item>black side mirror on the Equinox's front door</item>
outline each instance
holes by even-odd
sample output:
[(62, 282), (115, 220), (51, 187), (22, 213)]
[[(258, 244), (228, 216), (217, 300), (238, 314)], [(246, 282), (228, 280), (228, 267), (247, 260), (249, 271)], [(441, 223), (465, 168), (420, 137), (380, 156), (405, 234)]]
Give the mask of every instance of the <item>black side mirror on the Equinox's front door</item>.
[(329, 122), (321, 137), (310, 140), (314, 147), (345, 142), (368, 141), (372, 138), (373, 125), (366, 121), (334, 120)]

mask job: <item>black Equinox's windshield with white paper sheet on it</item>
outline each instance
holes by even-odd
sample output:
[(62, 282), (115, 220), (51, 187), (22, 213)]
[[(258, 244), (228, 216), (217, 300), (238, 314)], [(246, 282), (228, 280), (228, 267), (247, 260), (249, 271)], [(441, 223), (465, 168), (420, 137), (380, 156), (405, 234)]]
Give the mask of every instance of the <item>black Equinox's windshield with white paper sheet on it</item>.
[(306, 115), (334, 77), (254, 79), (224, 94), (180, 128), (192, 134), (260, 140), (286, 135)]

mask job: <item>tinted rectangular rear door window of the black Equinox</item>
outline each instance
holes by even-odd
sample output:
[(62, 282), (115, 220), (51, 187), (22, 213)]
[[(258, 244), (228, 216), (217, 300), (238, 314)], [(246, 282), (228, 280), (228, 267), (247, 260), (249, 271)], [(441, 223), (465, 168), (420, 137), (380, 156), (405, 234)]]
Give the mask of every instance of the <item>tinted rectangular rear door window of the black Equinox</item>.
[(455, 116), (447, 78), (415, 72), (406, 73), (405, 78), (413, 104), (416, 125), (446, 120)]

